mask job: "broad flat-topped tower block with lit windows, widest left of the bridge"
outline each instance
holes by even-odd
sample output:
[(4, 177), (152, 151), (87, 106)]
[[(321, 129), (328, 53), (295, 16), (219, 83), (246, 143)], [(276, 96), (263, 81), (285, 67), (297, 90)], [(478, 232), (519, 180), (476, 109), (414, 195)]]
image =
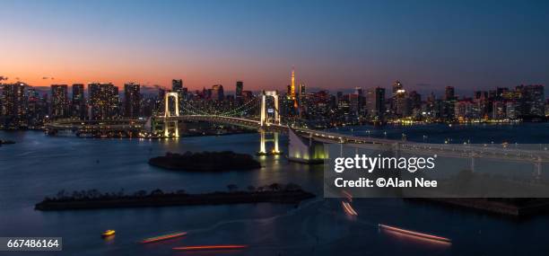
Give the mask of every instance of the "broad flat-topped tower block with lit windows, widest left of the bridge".
[(91, 119), (113, 119), (118, 116), (118, 87), (111, 83), (88, 84)]

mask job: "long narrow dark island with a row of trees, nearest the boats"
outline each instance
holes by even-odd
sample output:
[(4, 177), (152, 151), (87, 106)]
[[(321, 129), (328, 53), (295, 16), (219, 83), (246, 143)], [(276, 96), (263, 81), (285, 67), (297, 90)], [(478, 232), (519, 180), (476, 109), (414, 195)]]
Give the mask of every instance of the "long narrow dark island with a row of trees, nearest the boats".
[(83, 190), (67, 193), (61, 190), (55, 198), (46, 198), (36, 204), (36, 210), (75, 210), (121, 207), (169, 207), (169, 206), (199, 206), (250, 203), (282, 203), (299, 204), (301, 200), (312, 199), (314, 194), (301, 190), (296, 184), (281, 185), (273, 183), (268, 186), (248, 190), (238, 190), (238, 186), (230, 184), (228, 192), (215, 191), (205, 194), (187, 194), (185, 190), (163, 192), (139, 190), (126, 195), (124, 190), (114, 193), (100, 193), (98, 190)]

